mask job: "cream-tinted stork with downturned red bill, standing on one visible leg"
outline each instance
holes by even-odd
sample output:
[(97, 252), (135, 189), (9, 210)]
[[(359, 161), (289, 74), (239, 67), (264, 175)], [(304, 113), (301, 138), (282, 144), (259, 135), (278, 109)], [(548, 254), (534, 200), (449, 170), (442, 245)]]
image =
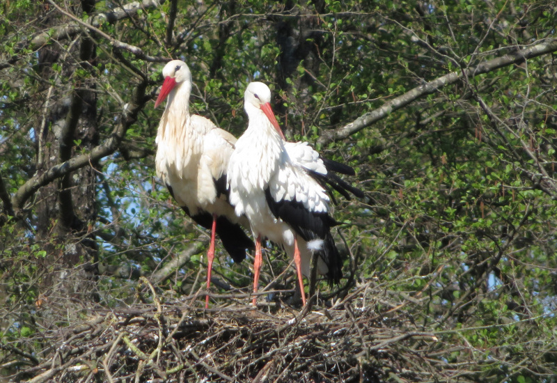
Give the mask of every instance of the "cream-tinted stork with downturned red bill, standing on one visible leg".
[[(168, 62), (162, 70), (164, 83), (155, 108), (166, 97), (166, 109), (157, 130), (157, 176), (176, 202), (197, 224), (211, 230), (207, 251), (207, 291), (211, 283), (215, 233), (235, 262), (253, 249), (253, 241), (240, 224), (245, 217), (235, 214), (228, 203), (226, 169), (235, 137), (205, 117), (189, 114), (191, 72), (184, 61)], [(205, 297), (205, 308), (209, 295)]]

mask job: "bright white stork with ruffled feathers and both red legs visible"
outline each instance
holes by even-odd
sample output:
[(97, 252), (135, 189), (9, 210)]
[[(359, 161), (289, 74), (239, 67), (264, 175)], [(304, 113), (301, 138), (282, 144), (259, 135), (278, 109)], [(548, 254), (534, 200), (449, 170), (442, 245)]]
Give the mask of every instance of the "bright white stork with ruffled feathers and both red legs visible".
[[(273, 114), (271, 91), (252, 82), (244, 93), (247, 130), (237, 140), (228, 163), (230, 203), (236, 214), (249, 219), (256, 238), (253, 292), (258, 290), (262, 263), (261, 240), (266, 237), (294, 259), (301, 299), (306, 304), (302, 274), (309, 276), (311, 258), (317, 252), (317, 271), (338, 283), (342, 259), (331, 235), (338, 224), (329, 215), (329, 196), (324, 185), (361, 196), (361, 192), (327, 170), (351, 173), (350, 166), (324, 162), (306, 143), (285, 142)], [(327, 167), (331, 169), (327, 169)], [(256, 296), (253, 304), (256, 304)]]

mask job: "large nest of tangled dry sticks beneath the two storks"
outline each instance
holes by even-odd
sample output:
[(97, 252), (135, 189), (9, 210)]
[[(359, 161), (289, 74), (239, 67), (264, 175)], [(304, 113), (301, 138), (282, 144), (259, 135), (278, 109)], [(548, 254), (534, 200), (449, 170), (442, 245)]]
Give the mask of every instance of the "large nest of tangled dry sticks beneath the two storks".
[[(368, 283), (336, 302), (305, 308), (196, 297), (97, 311), (42, 334), (45, 355), (12, 381), (422, 382), (437, 338), (381, 306)], [(379, 295), (379, 292), (376, 292)], [(263, 301), (260, 297), (260, 301)], [(314, 299), (315, 300), (315, 299)], [(327, 307), (328, 304), (328, 307)]]

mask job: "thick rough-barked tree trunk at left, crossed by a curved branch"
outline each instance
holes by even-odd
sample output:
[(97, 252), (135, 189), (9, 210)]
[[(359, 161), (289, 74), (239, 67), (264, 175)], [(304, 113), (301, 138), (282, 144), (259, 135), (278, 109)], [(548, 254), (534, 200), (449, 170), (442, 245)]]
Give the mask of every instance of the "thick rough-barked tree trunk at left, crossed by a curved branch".
[[(84, 0), (74, 8), (78, 5), (82, 12), (92, 13), (95, 2)], [(79, 14), (78, 9), (74, 11)], [(58, 24), (59, 20), (45, 22)], [(82, 68), (90, 73), (95, 56), (95, 45), (85, 34), (66, 47), (47, 45), (39, 51), (42, 79), (45, 84), (54, 79), (41, 92), (48, 95), (46, 99), (38, 100), (43, 110), (36, 124), (40, 127), (36, 134), (39, 173), (98, 144), (95, 79), (77, 72)], [(63, 84), (61, 78), (72, 81)], [(95, 165), (78, 169), (37, 193), (36, 240), (47, 251), (42, 291), (51, 299), (95, 297), (98, 249), (90, 234), (97, 217)]]

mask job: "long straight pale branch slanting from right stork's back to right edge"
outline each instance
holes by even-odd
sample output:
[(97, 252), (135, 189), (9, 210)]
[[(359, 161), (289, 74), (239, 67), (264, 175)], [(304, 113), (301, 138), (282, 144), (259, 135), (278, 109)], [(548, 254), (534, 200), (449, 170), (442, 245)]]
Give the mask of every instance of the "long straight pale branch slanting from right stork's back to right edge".
[(521, 49), (511, 54), (505, 54), (505, 56), (492, 58), (491, 60), (485, 61), (484, 63), (480, 63), (480, 65), (477, 65), (474, 68), (467, 68), (459, 72), (451, 72), (448, 75), (444, 75), (443, 77), (439, 77), (438, 79), (428, 81), (425, 84), (417, 86), (411, 91), (408, 91), (407, 93), (394, 98), (393, 100), (385, 102), (382, 107), (379, 107), (374, 111), (370, 111), (369, 113), (363, 114), (359, 118), (356, 118), (356, 120), (352, 121), (352, 123), (349, 123), (336, 130), (324, 132), (324, 134), (322, 134), (322, 136), (317, 139), (317, 143), (324, 146), (327, 145), (327, 143), (345, 139), (348, 136), (359, 132), (364, 127), (368, 127), (372, 125), (372, 123), (376, 123), (377, 121), (382, 120), (382, 118), (389, 116), (389, 114), (391, 114), (393, 111), (401, 109), (402, 107), (406, 107), (408, 104), (410, 104), (414, 100), (417, 100), (419, 97), (435, 93), (444, 86), (454, 84), (455, 82), (462, 79), (462, 77), (464, 77), (465, 75), (471, 77), (483, 75), (484, 73), (491, 72), (492, 70), (496, 70), (512, 64), (519, 64), (527, 60), (528, 58), (542, 56), (543, 54), (548, 54), (555, 51), (557, 51), (557, 39), (549, 39), (547, 41), (541, 42), (540, 44), (533, 45), (532, 47)]

